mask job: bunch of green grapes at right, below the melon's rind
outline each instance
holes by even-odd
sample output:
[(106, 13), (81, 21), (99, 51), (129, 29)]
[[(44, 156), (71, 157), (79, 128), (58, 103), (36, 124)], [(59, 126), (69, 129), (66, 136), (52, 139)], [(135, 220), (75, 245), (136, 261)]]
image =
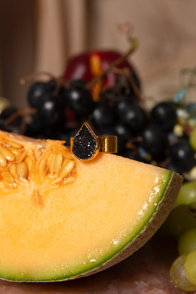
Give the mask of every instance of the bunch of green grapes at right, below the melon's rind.
[(162, 232), (177, 238), (179, 257), (173, 262), (170, 277), (183, 291), (196, 290), (196, 181), (184, 183), (175, 208), (162, 226)]

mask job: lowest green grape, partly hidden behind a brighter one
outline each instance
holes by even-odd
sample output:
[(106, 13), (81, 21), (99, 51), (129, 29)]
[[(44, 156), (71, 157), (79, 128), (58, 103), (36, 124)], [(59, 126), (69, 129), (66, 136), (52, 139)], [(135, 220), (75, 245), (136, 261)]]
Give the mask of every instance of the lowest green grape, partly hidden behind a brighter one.
[(180, 255), (172, 264), (170, 270), (170, 278), (175, 286), (177, 286), (182, 291), (195, 291), (196, 286), (187, 280), (184, 271), (184, 263), (187, 254)]

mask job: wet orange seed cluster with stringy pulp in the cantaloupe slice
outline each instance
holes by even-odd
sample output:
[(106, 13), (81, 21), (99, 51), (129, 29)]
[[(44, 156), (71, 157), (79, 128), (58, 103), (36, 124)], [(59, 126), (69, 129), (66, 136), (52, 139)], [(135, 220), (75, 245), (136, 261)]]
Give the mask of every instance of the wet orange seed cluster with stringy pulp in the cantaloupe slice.
[[(36, 174), (37, 178), (51, 178), (51, 185), (65, 184), (75, 179), (75, 162), (65, 146), (62, 145), (60, 151), (58, 149), (55, 152), (51, 140), (35, 140), (30, 147), (20, 136), (15, 135), (20, 138), (21, 144), (18, 143), (19, 140), (14, 140), (15, 137), (9, 138), (5, 134), (1, 132), (0, 136), (0, 180), (4, 184), (17, 187), (21, 182), (27, 183), (32, 174), (34, 179)], [(38, 201), (38, 191), (35, 192), (35, 197)]]

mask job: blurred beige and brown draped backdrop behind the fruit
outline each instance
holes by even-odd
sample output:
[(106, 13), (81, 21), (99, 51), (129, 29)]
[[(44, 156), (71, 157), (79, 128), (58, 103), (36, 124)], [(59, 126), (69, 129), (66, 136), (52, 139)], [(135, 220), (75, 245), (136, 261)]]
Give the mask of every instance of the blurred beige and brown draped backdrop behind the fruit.
[(133, 25), (138, 49), (130, 61), (155, 99), (179, 87), (179, 71), (196, 64), (195, 0), (1, 0), (0, 96), (26, 106), (29, 84), (19, 80), (46, 70), (60, 76), (69, 56), (81, 51), (125, 52), (117, 25)]

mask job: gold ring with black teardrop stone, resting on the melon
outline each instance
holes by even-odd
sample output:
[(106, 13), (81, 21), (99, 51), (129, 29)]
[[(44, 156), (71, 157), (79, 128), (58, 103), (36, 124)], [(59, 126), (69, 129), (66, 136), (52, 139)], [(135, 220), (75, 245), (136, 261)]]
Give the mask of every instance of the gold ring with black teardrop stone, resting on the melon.
[(70, 147), (76, 158), (87, 161), (99, 152), (117, 153), (117, 136), (96, 136), (88, 123), (83, 123), (76, 136), (70, 138)]

